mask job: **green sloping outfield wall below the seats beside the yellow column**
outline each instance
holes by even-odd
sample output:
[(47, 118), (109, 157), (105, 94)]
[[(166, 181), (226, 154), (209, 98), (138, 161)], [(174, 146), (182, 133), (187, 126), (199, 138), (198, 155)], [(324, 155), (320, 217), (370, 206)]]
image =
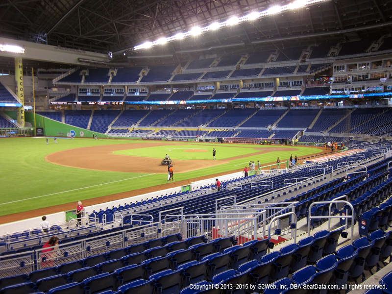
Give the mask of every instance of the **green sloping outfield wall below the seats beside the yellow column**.
[[(34, 113), (25, 112), (25, 121), (32, 123), (34, 125)], [(44, 135), (48, 137), (67, 137), (67, 133), (74, 131), (75, 137), (78, 138), (93, 138), (93, 134), (96, 134), (98, 138), (107, 138), (108, 136), (105, 134), (101, 134), (98, 132), (93, 132), (90, 130), (86, 130), (77, 126), (69, 125), (66, 123), (60, 123), (57, 121), (53, 121), (39, 114), (35, 115), (35, 121), (37, 123), (37, 127), (44, 128)]]

